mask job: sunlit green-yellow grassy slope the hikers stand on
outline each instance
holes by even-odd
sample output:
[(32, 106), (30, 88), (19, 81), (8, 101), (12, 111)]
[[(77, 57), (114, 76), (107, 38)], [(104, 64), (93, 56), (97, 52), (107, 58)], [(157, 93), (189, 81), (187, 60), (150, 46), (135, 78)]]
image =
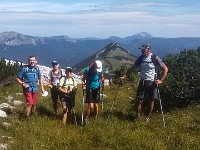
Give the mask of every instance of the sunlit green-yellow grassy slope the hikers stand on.
[[(185, 109), (165, 112), (166, 127), (163, 127), (162, 115), (154, 113), (149, 123), (143, 119), (136, 120), (131, 108), (129, 96), (134, 96), (137, 85), (106, 87), (104, 113), (97, 119), (91, 119), (89, 124), (81, 128), (81, 91), (76, 101), (78, 125), (61, 124), (61, 115), (54, 117), (50, 97), (39, 97), (38, 115), (30, 119), (23, 117), (23, 106), (17, 113), (8, 118), (0, 118), (0, 143), (8, 143), (9, 149), (84, 149), (84, 150), (184, 150), (200, 149), (200, 109), (198, 105)], [(119, 93), (117, 90), (119, 89)], [(80, 90), (80, 88), (79, 88)], [(12, 95), (14, 99), (21, 89), (18, 85), (1, 89), (0, 102), (5, 102), (4, 96)], [(8, 93), (7, 93), (8, 92)], [(107, 121), (108, 112), (114, 96), (117, 93), (116, 105)], [(60, 106), (60, 105), (59, 105)], [(61, 109), (60, 109), (61, 114)], [(5, 128), (2, 122), (11, 123)]]

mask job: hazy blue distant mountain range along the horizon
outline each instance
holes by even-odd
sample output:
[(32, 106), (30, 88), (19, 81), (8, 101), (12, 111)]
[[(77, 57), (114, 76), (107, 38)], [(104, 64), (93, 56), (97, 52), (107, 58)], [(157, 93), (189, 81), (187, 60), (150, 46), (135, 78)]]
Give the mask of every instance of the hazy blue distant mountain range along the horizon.
[(0, 33), (0, 57), (26, 63), (28, 56), (34, 54), (38, 57), (38, 62), (45, 66), (50, 66), (54, 59), (60, 62), (61, 67), (75, 66), (111, 42), (117, 42), (120, 47), (135, 56), (140, 54), (138, 47), (143, 43), (149, 43), (152, 51), (161, 57), (200, 46), (200, 38), (153, 37), (146, 32), (125, 38), (112, 36), (107, 39), (34, 37), (16, 32), (3, 32)]

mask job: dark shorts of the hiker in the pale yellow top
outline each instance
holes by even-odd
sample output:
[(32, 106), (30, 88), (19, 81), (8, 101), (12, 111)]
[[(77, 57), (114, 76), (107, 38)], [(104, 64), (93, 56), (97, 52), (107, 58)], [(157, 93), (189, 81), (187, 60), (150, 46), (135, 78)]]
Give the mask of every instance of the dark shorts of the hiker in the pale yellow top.
[(61, 98), (62, 106), (66, 106), (68, 109), (75, 107), (75, 99), (71, 95), (65, 95)]

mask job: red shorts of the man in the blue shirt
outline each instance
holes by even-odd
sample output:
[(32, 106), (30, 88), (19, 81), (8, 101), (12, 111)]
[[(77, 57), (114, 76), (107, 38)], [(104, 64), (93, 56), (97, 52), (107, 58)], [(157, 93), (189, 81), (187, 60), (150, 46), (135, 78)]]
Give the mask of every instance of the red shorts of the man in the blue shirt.
[(37, 104), (37, 95), (38, 95), (37, 92), (29, 92), (27, 90), (24, 90), (23, 93), (24, 93), (24, 96), (26, 98), (26, 104), (27, 105), (35, 106)]

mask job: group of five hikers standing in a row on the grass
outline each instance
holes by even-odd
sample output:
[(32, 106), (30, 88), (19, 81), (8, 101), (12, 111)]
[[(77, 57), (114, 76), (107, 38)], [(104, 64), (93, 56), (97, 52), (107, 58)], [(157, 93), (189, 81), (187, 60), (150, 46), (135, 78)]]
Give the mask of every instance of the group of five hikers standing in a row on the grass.
[[(162, 84), (166, 78), (168, 68), (157, 55), (152, 54), (151, 47), (148, 44), (142, 45), (140, 49), (142, 53), (141, 56), (138, 57), (135, 64), (119, 78), (119, 83), (129, 76), (136, 67), (140, 67), (141, 77), (137, 90), (137, 116), (140, 117), (143, 101), (147, 99), (149, 103), (149, 112), (146, 115), (146, 119), (149, 120), (154, 108), (154, 100), (159, 98), (160, 93), (158, 86)], [(161, 78), (157, 76), (158, 67), (161, 68), (163, 72)], [(95, 118), (98, 117), (100, 89), (104, 87), (104, 71), (102, 68), (102, 62), (99, 60), (93, 61), (92, 64), (84, 68), (82, 77), (82, 123), (87, 124), (91, 111), (94, 111)], [(65, 72), (62, 72), (59, 62), (56, 60), (52, 61), (52, 70), (49, 72), (48, 87), (50, 88), (55, 115), (58, 113), (58, 100), (61, 100), (63, 124), (67, 123), (69, 113), (74, 113), (75, 116), (74, 107), (77, 93), (77, 81), (73, 77), (72, 72), (73, 69), (71, 67), (66, 67)], [(25, 115), (29, 117), (31, 113), (36, 113), (38, 85), (40, 85), (43, 95), (47, 94), (44, 89), (41, 70), (37, 66), (37, 60), (34, 55), (28, 58), (28, 65), (21, 67), (16, 80), (22, 86), (26, 99)], [(88, 105), (84, 111), (85, 103)]]

